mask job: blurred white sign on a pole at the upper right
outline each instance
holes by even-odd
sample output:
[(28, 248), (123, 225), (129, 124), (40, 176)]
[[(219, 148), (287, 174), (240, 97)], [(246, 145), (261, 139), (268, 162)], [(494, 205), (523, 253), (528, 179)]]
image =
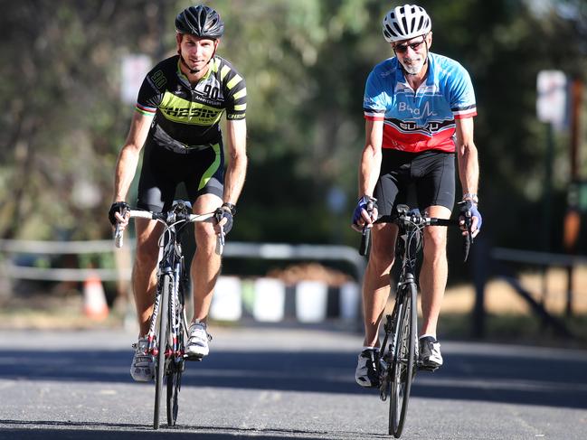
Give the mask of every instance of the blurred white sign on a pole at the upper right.
[(566, 76), (561, 70), (540, 70), (536, 80), (538, 119), (563, 128), (567, 119)]

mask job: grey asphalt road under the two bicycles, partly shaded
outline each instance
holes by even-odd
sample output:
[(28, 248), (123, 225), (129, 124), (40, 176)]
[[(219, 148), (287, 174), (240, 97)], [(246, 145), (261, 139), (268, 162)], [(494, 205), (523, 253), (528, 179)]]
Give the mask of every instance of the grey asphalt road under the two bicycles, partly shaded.
[[(361, 338), (213, 328), (187, 365), (178, 425), (153, 431), (154, 386), (128, 375), (133, 334), (0, 332), (0, 439), (389, 438), (387, 403), (355, 385)], [(585, 439), (587, 351), (443, 342), (419, 373), (406, 439)]]

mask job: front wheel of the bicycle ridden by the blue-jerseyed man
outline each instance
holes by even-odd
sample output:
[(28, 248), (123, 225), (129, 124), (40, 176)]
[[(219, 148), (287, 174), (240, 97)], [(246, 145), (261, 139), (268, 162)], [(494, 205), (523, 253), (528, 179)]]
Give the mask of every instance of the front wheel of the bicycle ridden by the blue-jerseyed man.
[(408, 401), (412, 389), (413, 371), (416, 360), (416, 285), (407, 283), (399, 293), (399, 314), (395, 332), (397, 347), (393, 356), (392, 384), (389, 402), (389, 434), (399, 438), (402, 435), (405, 417), (408, 412)]

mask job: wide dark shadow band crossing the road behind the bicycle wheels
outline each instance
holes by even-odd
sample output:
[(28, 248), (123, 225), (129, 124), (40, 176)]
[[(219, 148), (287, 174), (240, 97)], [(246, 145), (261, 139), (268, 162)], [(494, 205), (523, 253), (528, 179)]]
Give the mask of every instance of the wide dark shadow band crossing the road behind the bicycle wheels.
[[(129, 383), (130, 360), (130, 351), (5, 350), (0, 377)], [(212, 351), (203, 362), (187, 364), (183, 385), (375, 394), (355, 384), (355, 362), (349, 352)], [(451, 352), (442, 369), (418, 374), (412, 396), (587, 408), (586, 370), (585, 357), (546, 357), (544, 351), (535, 357)]]

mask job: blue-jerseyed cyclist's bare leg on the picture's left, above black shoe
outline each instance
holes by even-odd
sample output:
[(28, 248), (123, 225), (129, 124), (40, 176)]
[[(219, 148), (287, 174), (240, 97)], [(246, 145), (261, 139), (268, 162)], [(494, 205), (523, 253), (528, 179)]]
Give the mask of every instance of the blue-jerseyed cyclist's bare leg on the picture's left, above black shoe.
[(363, 282), (365, 347), (379, 347), (379, 324), (390, 293), (389, 272), (395, 257), (397, 226), (377, 224), (372, 229), (372, 246)]

